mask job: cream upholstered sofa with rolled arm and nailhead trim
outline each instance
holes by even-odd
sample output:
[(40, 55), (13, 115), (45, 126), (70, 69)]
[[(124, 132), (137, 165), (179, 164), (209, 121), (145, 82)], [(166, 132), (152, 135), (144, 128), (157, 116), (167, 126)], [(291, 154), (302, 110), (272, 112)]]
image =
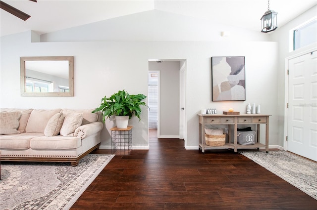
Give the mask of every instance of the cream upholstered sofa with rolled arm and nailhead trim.
[(70, 162), (99, 149), (100, 113), (69, 109), (0, 109), (0, 160)]

